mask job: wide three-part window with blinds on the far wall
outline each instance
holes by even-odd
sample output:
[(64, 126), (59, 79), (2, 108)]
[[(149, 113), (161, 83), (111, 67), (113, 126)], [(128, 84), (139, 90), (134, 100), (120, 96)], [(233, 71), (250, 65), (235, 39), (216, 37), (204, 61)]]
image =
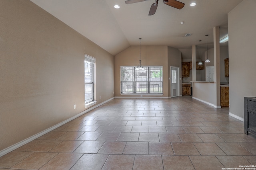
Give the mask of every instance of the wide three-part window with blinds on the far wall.
[(135, 66), (121, 66), (122, 93), (163, 93), (162, 66), (144, 66), (137, 70)]

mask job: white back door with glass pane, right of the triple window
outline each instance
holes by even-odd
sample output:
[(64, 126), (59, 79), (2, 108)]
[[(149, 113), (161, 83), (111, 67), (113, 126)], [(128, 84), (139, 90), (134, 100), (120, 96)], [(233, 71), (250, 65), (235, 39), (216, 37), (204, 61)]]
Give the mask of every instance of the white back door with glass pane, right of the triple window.
[(180, 96), (180, 68), (171, 66), (171, 97)]

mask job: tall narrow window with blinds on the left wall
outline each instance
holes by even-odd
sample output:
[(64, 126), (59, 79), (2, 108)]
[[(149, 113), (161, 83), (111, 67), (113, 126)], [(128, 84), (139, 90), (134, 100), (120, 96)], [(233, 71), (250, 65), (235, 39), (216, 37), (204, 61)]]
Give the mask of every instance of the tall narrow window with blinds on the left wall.
[(84, 56), (84, 103), (94, 101), (94, 64), (95, 58)]

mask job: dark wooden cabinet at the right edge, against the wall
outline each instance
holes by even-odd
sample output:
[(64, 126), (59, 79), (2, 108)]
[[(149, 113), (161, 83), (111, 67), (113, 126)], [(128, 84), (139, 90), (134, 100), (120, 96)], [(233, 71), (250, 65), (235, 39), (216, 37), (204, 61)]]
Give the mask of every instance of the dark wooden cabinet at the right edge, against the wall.
[(244, 133), (256, 135), (256, 97), (244, 97)]

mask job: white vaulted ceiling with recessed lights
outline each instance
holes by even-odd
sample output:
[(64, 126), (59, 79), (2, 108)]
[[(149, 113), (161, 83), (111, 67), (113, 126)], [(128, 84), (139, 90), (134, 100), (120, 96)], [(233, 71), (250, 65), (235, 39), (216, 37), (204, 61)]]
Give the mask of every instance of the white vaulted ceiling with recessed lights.
[[(220, 38), (228, 34), (228, 12), (242, 0), (179, 0), (178, 10), (158, 2), (156, 14), (148, 16), (155, 0), (125, 4), (125, 0), (31, 0), (112, 55), (139, 45), (168, 45), (188, 49), (213, 44), (213, 27), (220, 26)], [(191, 7), (190, 3), (196, 2)], [(118, 4), (119, 9), (114, 5)], [(182, 25), (180, 22), (184, 21)], [(190, 37), (184, 37), (192, 33)], [(227, 44), (227, 43), (226, 43)]]

